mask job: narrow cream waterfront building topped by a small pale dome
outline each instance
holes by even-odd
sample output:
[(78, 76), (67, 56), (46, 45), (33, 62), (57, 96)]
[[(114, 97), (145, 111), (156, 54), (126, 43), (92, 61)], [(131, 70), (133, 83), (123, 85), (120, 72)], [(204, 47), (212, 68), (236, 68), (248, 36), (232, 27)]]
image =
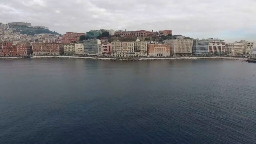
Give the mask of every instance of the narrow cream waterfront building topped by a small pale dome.
[(147, 42), (140, 41), (139, 37), (134, 43), (134, 55), (136, 57), (146, 57), (147, 56)]

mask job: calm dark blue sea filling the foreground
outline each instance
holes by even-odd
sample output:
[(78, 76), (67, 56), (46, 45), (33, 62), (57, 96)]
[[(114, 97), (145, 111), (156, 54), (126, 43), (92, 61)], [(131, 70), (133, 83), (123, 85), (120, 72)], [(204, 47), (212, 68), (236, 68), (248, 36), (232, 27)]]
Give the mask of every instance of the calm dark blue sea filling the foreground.
[(0, 59), (0, 144), (25, 143), (256, 143), (256, 64)]

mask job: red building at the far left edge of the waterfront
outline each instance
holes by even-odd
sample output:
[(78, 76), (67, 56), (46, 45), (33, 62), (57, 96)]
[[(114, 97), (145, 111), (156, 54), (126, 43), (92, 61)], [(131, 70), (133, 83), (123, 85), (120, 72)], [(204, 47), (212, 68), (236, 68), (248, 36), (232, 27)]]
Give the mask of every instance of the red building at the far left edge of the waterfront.
[(0, 42), (0, 55), (1, 56), (13, 56), (18, 55), (17, 46), (12, 42)]

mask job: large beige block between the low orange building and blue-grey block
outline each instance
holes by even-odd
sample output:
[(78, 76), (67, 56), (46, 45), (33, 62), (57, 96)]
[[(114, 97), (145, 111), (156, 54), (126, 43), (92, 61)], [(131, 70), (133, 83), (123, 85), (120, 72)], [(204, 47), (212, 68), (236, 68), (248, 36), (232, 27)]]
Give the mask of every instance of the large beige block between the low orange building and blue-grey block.
[(187, 39), (185, 37), (167, 39), (164, 44), (170, 45), (170, 55), (192, 55), (192, 39)]

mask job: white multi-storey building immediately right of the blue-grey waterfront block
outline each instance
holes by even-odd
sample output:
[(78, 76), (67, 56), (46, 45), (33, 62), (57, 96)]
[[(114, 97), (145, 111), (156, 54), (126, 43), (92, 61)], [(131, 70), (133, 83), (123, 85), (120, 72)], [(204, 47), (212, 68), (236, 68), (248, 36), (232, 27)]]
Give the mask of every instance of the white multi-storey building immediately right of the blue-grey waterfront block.
[(226, 43), (221, 39), (209, 38), (209, 54), (224, 54)]

